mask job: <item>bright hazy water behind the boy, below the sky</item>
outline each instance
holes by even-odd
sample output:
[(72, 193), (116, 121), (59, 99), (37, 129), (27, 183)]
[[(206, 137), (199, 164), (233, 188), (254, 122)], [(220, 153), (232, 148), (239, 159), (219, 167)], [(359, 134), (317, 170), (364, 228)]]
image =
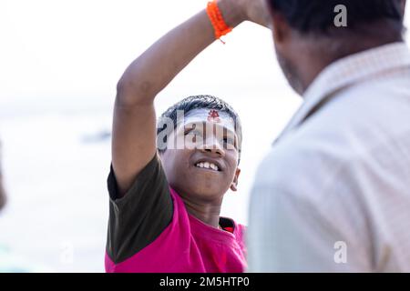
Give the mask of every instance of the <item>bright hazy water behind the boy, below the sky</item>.
[[(239, 191), (227, 193), (222, 215), (246, 224), (256, 167), (300, 101), (289, 92), (272, 97), (267, 91), (254, 91), (252, 100), (246, 90), (224, 95), (241, 115), (244, 140)], [(170, 101), (174, 100), (161, 100), (157, 107), (162, 110)], [(9, 194), (0, 214), (0, 244), (36, 270), (102, 272), (110, 102), (56, 108), (44, 103), (37, 103), (40, 109), (32, 114), (5, 114), (10, 113), (5, 107), (0, 111)]]

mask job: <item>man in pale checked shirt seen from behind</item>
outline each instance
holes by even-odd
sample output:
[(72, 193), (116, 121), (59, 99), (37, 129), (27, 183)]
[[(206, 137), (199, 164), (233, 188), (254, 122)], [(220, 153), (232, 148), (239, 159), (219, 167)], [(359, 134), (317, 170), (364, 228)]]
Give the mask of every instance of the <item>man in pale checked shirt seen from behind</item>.
[(409, 272), (405, 1), (268, 3), (278, 61), (304, 102), (252, 190), (250, 270)]

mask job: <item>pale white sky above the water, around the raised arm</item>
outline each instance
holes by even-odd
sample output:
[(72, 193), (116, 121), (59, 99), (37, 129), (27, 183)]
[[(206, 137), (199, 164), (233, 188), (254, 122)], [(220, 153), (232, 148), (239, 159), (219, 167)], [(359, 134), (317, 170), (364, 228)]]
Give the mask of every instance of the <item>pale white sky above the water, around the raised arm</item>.
[[(127, 65), (206, 3), (2, 0), (0, 105), (36, 105), (45, 98), (51, 103), (77, 99), (109, 104)], [(198, 91), (238, 84), (288, 88), (267, 29), (243, 24), (226, 40), (227, 45), (215, 43), (200, 55), (167, 92), (179, 93), (187, 84)]]

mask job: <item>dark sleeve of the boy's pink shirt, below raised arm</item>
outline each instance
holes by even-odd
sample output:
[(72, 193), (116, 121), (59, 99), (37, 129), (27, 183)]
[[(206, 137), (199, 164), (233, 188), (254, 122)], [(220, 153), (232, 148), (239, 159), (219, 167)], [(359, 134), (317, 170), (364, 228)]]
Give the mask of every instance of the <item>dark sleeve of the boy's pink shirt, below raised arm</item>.
[(172, 219), (169, 184), (159, 156), (156, 154), (145, 166), (122, 198), (117, 198), (117, 180), (111, 166), (108, 193), (107, 254), (118, 264), (149, 246)]

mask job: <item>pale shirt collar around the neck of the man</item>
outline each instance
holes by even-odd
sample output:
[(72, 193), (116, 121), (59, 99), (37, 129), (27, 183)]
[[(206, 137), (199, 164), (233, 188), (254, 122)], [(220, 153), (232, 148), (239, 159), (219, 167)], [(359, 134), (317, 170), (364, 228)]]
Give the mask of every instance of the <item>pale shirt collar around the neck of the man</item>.
[(308, 87), (303, 95), (303, 104), (275, 143), (301, 125), (330, 95), (374, 75), (405, 66), (410, 66), (410, 52), (403, 42), (382, 45), (333, 62), (325, 67)]

